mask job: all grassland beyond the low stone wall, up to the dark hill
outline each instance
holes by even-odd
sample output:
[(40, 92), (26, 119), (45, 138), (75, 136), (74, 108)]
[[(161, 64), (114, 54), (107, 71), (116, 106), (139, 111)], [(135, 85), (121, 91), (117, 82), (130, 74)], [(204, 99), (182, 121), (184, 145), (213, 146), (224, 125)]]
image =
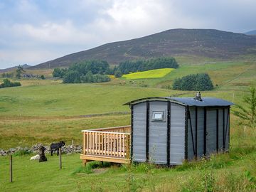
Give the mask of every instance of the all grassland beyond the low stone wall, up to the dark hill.
[[(181, 65), (164, 78), (136, 80), (170, 85), (171, 79), (189, 73), (208, 71), (215, 90), (202, 92), (203, 97), (219, 97), (241, 104), (247, 86), (255, 82), (255, 63), (212, 63)], [(137, 85), (61, 84), (51, 80), (23, 80), (22, 87), (0, 89), (0, 146), (7, 149), (31, 146), (38, 142), (49, 144), (65, 140), (81, 142), (81, 129), (130, 124), (130, 115), (80, 117), (84, 114), (129, 112), (125, 102), (142, 97), (161, 97), (181, 94), (193, 97), (195, 92), (174, 91)], [(153, 84), (152, 84), (153, 85)], [(69, 134), (66, 134), (68, 132)], [(9, 142), (6, 142), (8, 140)]]

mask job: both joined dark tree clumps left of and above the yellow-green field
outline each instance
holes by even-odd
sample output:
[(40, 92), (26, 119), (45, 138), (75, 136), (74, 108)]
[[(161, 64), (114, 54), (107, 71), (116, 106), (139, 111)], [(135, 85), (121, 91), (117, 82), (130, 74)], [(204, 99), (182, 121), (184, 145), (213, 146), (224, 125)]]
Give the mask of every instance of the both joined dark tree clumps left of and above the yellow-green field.
[(159, 68), (178, 68), (178, 63), (172, 57), (152, 58), (149, 60), (127, 60), (110, 68), (109, 63), (105, 60), (86, 60), (75, 63), (69, 68), (55, 68), (53, 77), (63, 78), (64, 83), (107, 82), (110, 81), (108, 75), (121, 78), (122, 74)]

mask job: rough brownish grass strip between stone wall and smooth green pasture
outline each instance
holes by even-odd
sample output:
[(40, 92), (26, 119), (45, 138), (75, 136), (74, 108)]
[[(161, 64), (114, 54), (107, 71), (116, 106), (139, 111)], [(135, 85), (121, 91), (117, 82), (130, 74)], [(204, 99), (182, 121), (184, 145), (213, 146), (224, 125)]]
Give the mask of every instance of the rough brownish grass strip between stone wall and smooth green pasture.
[[(81, 144), (82, 129), (130, 124), (129, 114), (100, 117), (0, 117), (0, 149), (64, 140)], [(67, 134), (68, 133), (68, 134)], [(8, 141), (8, 142), (6, 142)]]

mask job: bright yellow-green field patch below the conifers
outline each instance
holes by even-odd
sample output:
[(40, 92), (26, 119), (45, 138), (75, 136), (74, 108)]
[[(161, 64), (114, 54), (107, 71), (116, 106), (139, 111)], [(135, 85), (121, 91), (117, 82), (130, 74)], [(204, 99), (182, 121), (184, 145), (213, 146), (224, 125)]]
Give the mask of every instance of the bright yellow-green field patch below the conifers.
[(122, 78), (124, 78), (126, 80), (164, 78), (165, 75), (171, 73), (171, 71), (173, 71), (173, 70), (174, 70), (174, 68), (146, 70), (146, 71), (142, 71), (142, 72), (122, 75)]

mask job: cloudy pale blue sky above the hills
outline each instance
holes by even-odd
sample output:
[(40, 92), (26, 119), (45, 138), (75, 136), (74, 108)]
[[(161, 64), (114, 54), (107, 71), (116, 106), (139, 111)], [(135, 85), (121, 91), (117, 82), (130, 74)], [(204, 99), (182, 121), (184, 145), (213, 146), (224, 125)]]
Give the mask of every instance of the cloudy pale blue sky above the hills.
[(256, 29), (255, 0), (0, 0), (0, 68), (171, 28)]

